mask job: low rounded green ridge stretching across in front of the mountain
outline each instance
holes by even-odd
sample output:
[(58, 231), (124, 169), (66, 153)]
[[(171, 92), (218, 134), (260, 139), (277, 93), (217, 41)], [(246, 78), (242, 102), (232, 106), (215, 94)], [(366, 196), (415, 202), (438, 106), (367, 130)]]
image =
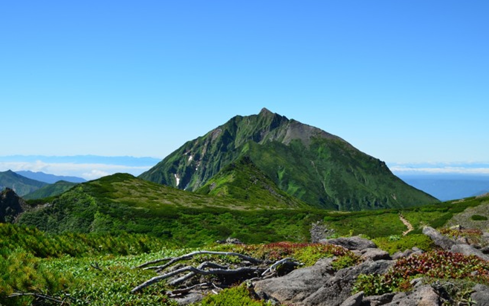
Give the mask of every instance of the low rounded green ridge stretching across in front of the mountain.
[[(415, 228), (422, 224), (441, 227), (454, 213), (487, 203), (488, 197), (362, 212), (267, 210), (256, 209), (252, 202), (241, 206), (238, 201), (228, 201), (227, 197), (198, 195), (116, 174), (70, 189), (49, 205), (22, 214), (19, 223), (52, 234), (149, 234), (186, 246), (199, 246), (228, 236), (246, 243), (307, 241), (311, 223), (318, 220), (324, 220), (340, 235), (352, 232), (374, 238), (400, 235), (406, 230), (399, 212)], [(222, 206), (211, 206), (215, 203)]]

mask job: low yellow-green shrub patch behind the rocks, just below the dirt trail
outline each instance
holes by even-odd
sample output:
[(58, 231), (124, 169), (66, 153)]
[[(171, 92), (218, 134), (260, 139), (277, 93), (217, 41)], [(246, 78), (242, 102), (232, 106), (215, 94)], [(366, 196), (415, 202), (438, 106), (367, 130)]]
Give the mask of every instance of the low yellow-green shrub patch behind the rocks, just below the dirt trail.
[[(399, 238), (398, 238), (399, 237)], [(373, 239), (379, 249), (382, 249), (389, 254), (394, 254), (398, 251), (405, 251), (412, 247), (418, 247), (425, 252), (433, 250), (435, 245), (430, 237), (422, 234), (413, 234), (406, 236), (396, 236), (396, 239), (389, 237), (378, 237)]]

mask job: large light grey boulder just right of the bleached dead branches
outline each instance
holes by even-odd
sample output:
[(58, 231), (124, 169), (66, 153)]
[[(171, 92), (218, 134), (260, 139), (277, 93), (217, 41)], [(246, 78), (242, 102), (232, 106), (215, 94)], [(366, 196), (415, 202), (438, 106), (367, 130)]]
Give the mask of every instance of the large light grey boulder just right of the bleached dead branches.
[[(284, 304), (301, 303), (333, 277), (333, 258), (320, 259), (315, 265), (297, 269), (289, 274), (255, 283), (255, 292), (261, 299), (274, 298)], [(300, 305), (300, 304), (298, 304)]]

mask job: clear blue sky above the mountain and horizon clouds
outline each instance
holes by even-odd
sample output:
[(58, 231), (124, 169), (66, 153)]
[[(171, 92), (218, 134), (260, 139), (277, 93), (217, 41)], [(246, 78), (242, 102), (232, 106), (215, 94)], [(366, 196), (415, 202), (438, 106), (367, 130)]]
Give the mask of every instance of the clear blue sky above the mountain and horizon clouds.
[(390, 163), (489, 161), (489, 1), (3, 1), (0, 156), (163, 158), (262, 107)]

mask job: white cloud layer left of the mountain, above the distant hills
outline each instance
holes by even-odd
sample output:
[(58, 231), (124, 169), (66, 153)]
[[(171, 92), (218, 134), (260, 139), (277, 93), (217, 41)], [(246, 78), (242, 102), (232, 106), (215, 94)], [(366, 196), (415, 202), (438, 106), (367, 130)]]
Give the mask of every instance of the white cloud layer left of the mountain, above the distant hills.
[(107, 165), (107, 164), (75, 164), (75, 163), (45, 163), (35, 162), (0, 162), (0, 171), (30, 170), (42, 171), (54, 175), (69, 175), (83, 177), (87, 180), (97, 179), (109, 174), (123, 172), (139, 175), (148, 170), (151, 166), (128, 166), (128, 165)]

